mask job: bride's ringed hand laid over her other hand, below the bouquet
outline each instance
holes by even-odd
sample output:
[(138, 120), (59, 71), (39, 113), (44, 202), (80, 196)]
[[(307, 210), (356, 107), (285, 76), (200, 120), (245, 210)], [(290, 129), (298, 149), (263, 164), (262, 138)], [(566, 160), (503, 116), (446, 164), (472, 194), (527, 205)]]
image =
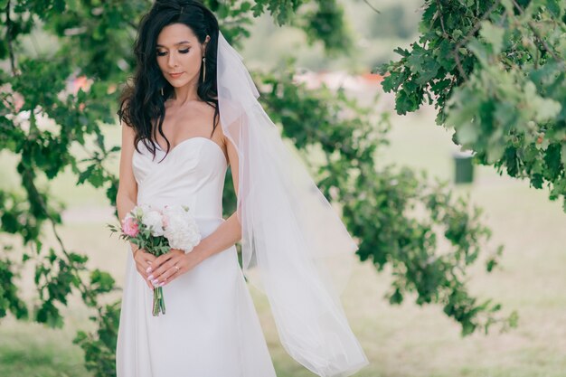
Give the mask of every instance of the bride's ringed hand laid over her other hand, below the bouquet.
[(156, 287), (163, 287), (193, 269), (200, 261), (194, 250), (185, 254), (183, 250), (171, 249), (153, 261), (152, 273), (147, 281)]

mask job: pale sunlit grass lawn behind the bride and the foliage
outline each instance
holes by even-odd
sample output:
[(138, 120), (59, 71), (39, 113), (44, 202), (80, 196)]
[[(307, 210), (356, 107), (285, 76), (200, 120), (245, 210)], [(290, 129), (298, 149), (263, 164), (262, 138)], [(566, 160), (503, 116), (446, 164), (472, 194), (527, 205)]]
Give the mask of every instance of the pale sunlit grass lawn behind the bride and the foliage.
[[(397, 162), (424, 168), (444, 179), (452, 177), (454, 146), (448, 131), (434, 125), (434, 114), (393, 118), (391, 147), (378, 164)], [(109, 139), (118, 142), (115, 128)], [(4, 176), (13, 161), (0, 155)], [(118, 162), (117, 162), (118, 163)], [(5, 184), (15, 184), (9, 179)], [(69, 203), (61, 234), (68, 248), (90, 255), (92, 267), (123, 279), (125, 245), (107, 237), (104, 224), (113, 221), (103, 193), (74, 187), (70, 174), (53, 184), (53, 192)], [(389, 271), (377, 274), (370, 264), (356, 264), (343, 302), (347, 316), (371, 364), (357, 376), (422, 377), (564, 377), (566, 376), (566, 214), (546, 192), (527, 182), (499, 176), (476, 166), (473, 184), (457, 187), (485, 209), (484, 221), (494, 231), (491, 246), (505, 244), (502, 266), (492, 274), (471, 271), (469, 287), (480, 299), (493, 297), (505, 313), (518, 310), (519, 327), (506, 334), (493, 331), (462, 338), (457, 324), (439, 306), (419, 307), (412, 297), (390, 306)], [(30, 271), (24, 271), (31, 281)], [(32, 287), (23, 287), (32, 295)], [(280, 377), (313, 376), (295, 363), (278, 343), (269, 304), (250, 287)], [(119, 294), (119, 292), (117, 293)], [(88, 376), (82, 352), (71, 343), (78, 329), (90, 328), (89, 311), (73, 302), (65, 308), (66, 325), (52, 330), (42, 325), (0, 322), (0, 376)]]

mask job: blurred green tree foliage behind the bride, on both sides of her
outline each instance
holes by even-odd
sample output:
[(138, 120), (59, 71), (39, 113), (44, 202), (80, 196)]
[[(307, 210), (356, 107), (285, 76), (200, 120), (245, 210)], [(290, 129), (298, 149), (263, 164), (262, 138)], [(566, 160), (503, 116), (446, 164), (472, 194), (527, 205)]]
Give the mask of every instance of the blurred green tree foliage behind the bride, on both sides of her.
[[(336, 41), (348, 38), (343, 10), (333, 0), (205, 3), (235, 44), (249, 35), (253, 16), (263, 12), (278, 24), (290, 23), (296, 14), (291, 24), (309, 33), (311, 41), (322, 41), (329, 52), (340, 46)], [(120, 148), (108, 146), (102, 127), (116, 123), (118, 84), (131, 74), (135, 27), (150, 5), (147, 0), (0, 0), (0, 59), (8, 67), (0, 70), (0, 150), (16, 158), (19, 178), (18, 187), (0, 188), (0, 231), (17, 235), (21, 243), (3, 240), (0, 317), (12, 313), (61, 326), (61, 306), (79, 294), (97, 330), (80, 332), (75, 343), (98, 376), (114, 374), (119, 303), (108, 304), (104, 296), (117, 287), (108, 273), (90, 269), (80, 250), (65, 245), (59, 235), (65, 205), (53, 199), (49, 183), (71, 168), (77, 184), (105, 190), (108, 203), (115, 205), (118, 178), (108, 164), (116, 164)], [(38, 31), (53, 37), (52, 48), (25, 49), (25, 38)], [(376, 121), (370, 109), (360, 108), (343, 90), (297, 84), (292, 61), (282, 68), (278, 74), (254, 73), (262, 105), (304, 154), (326, 197), (342, 204), (344, 221), (360, 242), (359, 258), (379, 270), (391, 266), (391, 303), (407, 296), (420, 305), (438, 303), (462, 325), (463, 334), (487, 330), (495, 322), (503, 328), (514, 325), (513, 314), (501, 316), (499, 305), (478, 302), (467, 292), (466, 271), (480, 260), (480, 251), (491, 250), (484, 253), (487, 270), (501, 252), (488, 244), (491, 234), (481, 223), (481, 211), (424, 174), (376, 166), (375, 152), (388, 144), (387, 114)], [(70, 80), (84, 80), (84, 85), (72, 90)], [(73, 154), (73, 146), (87, 157)], [(323, 164), (308, 160), (313, 149), (325, 156)], [(42, 179), (48, 184), (40, 184)], [(230, 179), (226, 212), (235, 205)], [(43, 244), (45, 231), (53, 233), (55, 246)], [(440, 238), (448, 240), (448, 248), (439, 246)], [(11, 251), (14, 247), (24, 252)], [(18, 271), (25, 264), (34, 269), (33, 310), (18, 289)]]

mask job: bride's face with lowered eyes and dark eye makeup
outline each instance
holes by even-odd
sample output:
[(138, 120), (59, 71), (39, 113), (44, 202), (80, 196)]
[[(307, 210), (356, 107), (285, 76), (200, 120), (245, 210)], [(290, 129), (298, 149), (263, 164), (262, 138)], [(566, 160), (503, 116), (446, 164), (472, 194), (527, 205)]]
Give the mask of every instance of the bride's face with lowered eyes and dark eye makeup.
[[(201, 44), (193, 30), (185, 24), (165, 26), (157, 36), (156, 57), (165, 80), (175, 88), (197, 85), (203, 51), (210, 36)], [(175, 74), (176, 73), (176, 74)]]

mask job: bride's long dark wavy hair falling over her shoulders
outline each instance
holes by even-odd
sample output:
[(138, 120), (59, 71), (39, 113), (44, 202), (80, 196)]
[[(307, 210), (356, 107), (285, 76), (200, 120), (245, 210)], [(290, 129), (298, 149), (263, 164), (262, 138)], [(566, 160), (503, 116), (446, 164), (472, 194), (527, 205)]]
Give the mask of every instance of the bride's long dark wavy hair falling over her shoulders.
[[(165, 100), (174, 89), (159, 69), (156, 61), (157, 36), (169, 24), (185, 24), (193, 30), (199, 42), (203, 43), (206, 35), (211, 39), (206, 44), (206, 80), (203, 81), (201, 69), (197, 95), (214, 108), (212, 134), (218, 125), (218, 91), (216, 88), (216, 53), (218, 48), (218, 20), (203, 4), (194, 0), (156, 0), (152, 8), (145, 14), (137, 30), (134, 43), (136, 55), (136, 72), (131, 84), (126, 84), (119, 99), (118, 118), (136, 131), (134, 145), (142, 140), (156, 157), (156, 131), (165, 138), (169, 153), (171, 144), (163, 133), (165, 119)], [(163, 89), (163, 95), (161, 90)], [(155, 127), (156, 125), (156, 127)], [(164, 158), (165, 158), (164, 156)]]

